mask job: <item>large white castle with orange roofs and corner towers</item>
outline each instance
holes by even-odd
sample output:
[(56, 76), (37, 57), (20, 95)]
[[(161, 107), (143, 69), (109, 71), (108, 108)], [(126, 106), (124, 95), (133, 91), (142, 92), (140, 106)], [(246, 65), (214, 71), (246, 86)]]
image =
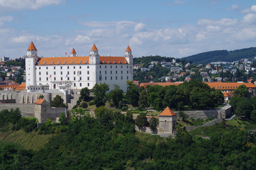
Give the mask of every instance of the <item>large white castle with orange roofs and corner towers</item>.
[(31, 54), (31, 50), (28, 49), (26, 57), (28, 92), (42, 89), (65, 91), (84, 87), (92, 89), (95, 83), (106, 83), (109, 85), (109, 90), (113, 90), (114, 85), (117, 85), (126, 91), (126, 81), (133, 80), (133, 56), (130, 47), (127, 47), (124, 57), (99, 56), (95, 45), (89, 56), (78, 57), (75, 51), (72, 51), (70, 56), (39, 58)]

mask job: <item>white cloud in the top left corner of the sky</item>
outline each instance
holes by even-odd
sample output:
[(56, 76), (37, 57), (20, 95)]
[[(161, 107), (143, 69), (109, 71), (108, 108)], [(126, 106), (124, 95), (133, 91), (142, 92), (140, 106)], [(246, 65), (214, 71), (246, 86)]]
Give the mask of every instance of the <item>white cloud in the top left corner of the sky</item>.
[(44, 6), (59, 5), (62, 0), (1, 0), (0, 11), (8, 12), (15, 10), (38, 10)]

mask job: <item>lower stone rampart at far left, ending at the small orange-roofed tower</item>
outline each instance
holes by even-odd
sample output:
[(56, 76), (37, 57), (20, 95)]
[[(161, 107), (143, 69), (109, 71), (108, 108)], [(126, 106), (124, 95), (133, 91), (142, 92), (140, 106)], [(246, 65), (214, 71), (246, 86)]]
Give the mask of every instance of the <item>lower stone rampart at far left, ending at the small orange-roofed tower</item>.
[(3, 111), (4, 109), (10, 111), (12, 108), (19, 108), (21, 115), (24, 117), (35, 116), (35, 104), (0, 104), (0, 111)]

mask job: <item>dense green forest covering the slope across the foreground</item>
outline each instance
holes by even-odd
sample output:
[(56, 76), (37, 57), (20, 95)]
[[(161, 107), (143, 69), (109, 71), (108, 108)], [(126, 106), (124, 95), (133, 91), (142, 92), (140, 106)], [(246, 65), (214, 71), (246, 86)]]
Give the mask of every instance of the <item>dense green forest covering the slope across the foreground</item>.
[[(3, 130), (22, 122), (18, 110), (12, 112), (0, 113), (1, 121), (7, 118), (1, 130), (23, 131), (22, 128)], [(92, 118), (83, 109), (76, 112), (68, 124), (48, 121), (39, 129), (30, 127), (34, 130), (27, 133), (54, 134), (39, 150), (0, 141), (0, 169), (254, 169), (256, 166), (256, 134), (227, 126), (225, 122), (203, 129), (210, 139), (182, 128), (172, 139), (135, 133), (129, 113), (104, 109)]]

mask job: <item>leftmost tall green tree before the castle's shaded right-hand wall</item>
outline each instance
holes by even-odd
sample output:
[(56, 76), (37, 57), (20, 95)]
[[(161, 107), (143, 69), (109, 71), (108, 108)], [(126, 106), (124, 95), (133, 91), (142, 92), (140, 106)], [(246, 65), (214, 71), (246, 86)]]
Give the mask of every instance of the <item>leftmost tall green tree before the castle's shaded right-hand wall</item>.
[(96, 83), (92, 88), (94, 92), (94, 103), (96, 107), (105, 106), (106, 103), (106, 91), (109, 90), (109, 85), (106, 83)]

